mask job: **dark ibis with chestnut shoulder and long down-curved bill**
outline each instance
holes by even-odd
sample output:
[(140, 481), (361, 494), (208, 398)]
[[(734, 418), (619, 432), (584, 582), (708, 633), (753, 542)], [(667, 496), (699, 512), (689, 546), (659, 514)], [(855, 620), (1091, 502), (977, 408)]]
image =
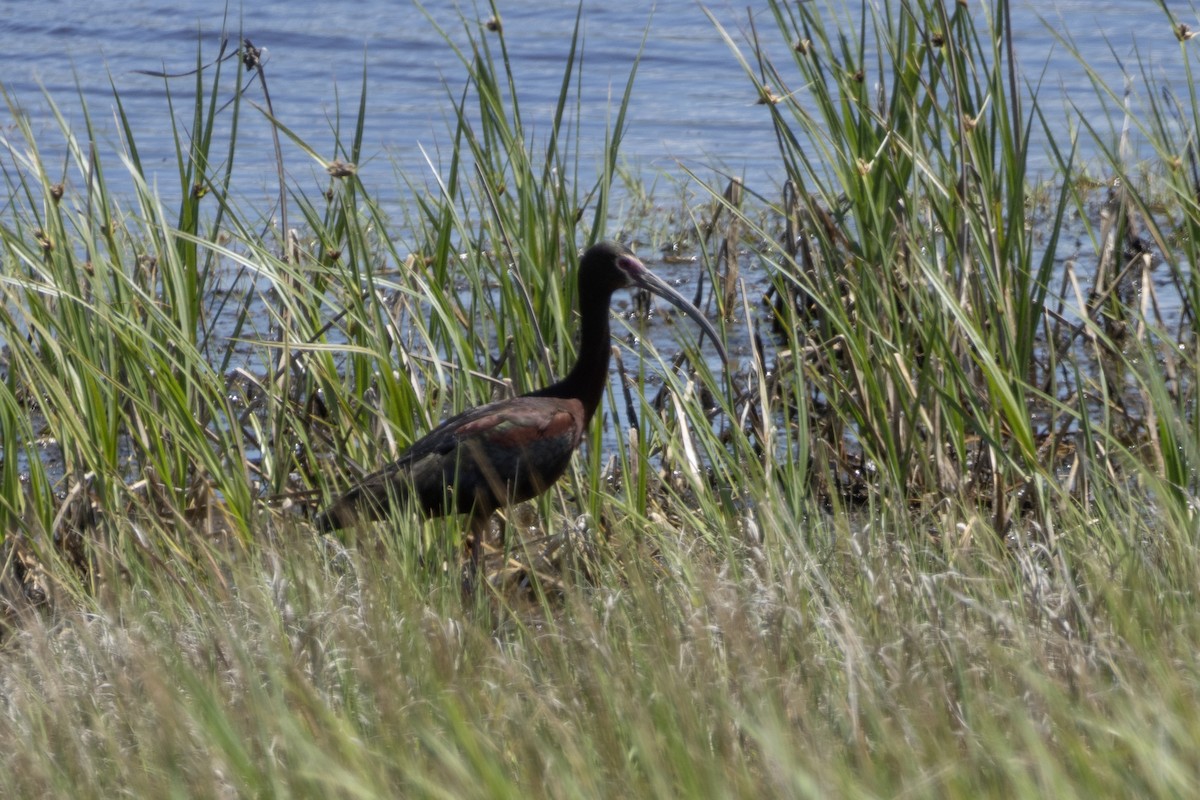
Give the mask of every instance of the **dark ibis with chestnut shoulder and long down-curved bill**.
[(329, 533), (360, 518), (380, 519), (394, 505), (427, 517), (466, 513), (474, 567), (492, 512), (541, 494), (566, 471), (608, 383), (608, 303), (618, 289), (641, 287), (679, 307), (726, 360), (713, 325), (628, 247), (600, 242), (588, 248), (578, 282), (582, 336), (578, 360), (565, 378), (450, 417), (317, 515), (317, 528)]

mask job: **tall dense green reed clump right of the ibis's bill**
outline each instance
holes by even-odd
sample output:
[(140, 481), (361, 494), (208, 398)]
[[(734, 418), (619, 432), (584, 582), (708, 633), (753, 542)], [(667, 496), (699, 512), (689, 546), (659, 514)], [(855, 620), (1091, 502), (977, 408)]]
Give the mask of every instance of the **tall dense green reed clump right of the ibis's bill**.
[[(780, 431), (786, 441), (775, 447), (806, 452), (815, 433), (828, 447), (814, 455), (818, 489), (846, 495), (840, 476), (869, 467), (868, 494), (934, 505), (961, 498), (1001, 534), (1028, 505), (1044, 523), (1054, 505), (1087, 499), (1064, 489), (1064, 468), (1091, 474), (1098, 456), (1105, 468), (1116, 458), (1126, 475), (1168, 467), (1128, 437), (1156, 416), (1147, 383), (1157, 372), (1146, 366), (1189, 372), (1170, 347), (1194, 336), (1190, 257), (1170, 243), (1190, 239), (1198, 186), (1182, 166), (1194, 161), (1194, 128), (1181, 126), (1178, 101), (1156, 92), (1148, 118), (1130, 120), (1163, 155), (1170, 186), (1154, 198), (1118, 142), (1091, 131), (1090, 150), (1108, 160), (1099, 168), (1118, 187), (1100, 223), (1076, 143), (1061, 142), (1038, 86), (1015, 73), (1006, 4), (985, 24), (976, 8), (940, 2), (770, 8), (770, 31), (751, 24), (745, 41), (725, 36), (760, 94), (773, 95), (767, 113), (786, 168), (775, 205), (785, 224), (760, 223), (754, 243), (774, 275), (775, 327), (791, 356), (778, 371), (794, 371), (785, 387), (803, 385), (823, 407), (814, 417), (814, 403), (793, 392), (790, 403), (810, 409), (794, 429), (805, 443)], [(1126, 115), (1120, 92), (1102, 85), (1099, 98)], [(1027, 179), (1033, 142), (1048, 143), (1056, 186)], [(1162, 200), (1180, 216), (1157, 213)], [(1097, 225), (1094, 278), (1055, 263), (1075, 215)], [(1175, 323), (1157, 313), (1139, 321), (1154, 311), (1146, 247), (1184, 302)], [(1086, 300), (1075, 294), (1084, 281)], [(1142, 307), (1127, 307), (1130, 283), (1146, 288)], [(1194, 416), (1186, 397), (1175, 396), (1183, 404), (1164, 409), (1166, 419)], [(1154, 435), (1146, 444), (1162, 450)], [(1169, 480), (1183, 480), (1177, 467)]]

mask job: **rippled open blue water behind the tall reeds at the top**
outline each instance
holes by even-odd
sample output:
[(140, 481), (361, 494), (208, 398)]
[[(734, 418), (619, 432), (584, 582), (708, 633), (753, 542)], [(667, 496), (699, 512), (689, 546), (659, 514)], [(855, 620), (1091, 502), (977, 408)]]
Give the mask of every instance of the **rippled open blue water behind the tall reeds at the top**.
[[(454, 6), (430, 5), (444, 6), (434, 12), (434, 20), (454, 41), (464, 42), (462, 18)], [(761, 1), (751, 5), (758, 8), (756, 24), (767, 38), (770, 14)], [(1136, 71), (1140, 55), (1151, 65), (1153, 79), (1174, 82), (1182, 92), (1180, 44), (1157, 2), (1057, 0), (1037, 4), (1037, 12), (1033, 5), (1020, 4), (1013, 11), (1018, 50), (1027, 77), (1037, 80), (1040, 76), (1051, 125), (1057, 124), (1061, 109), (1062, 133), (1079, 115), (1102, 126), (1104, 116), (1084, 67), (1056, 43), (1056, 32), (1072, 37), (1084, 60), (1117, 90), (1122, 83), (1116, 58)], [(1196, 26), (1194, 14), (1184, 13), (1187, 6), (1175, 5), (1183, 22)], [(972, 6), (985, 13), (986, 4)], [(78, 106), (74, 95), (82, 94), (102, 142), (115, 148), (112, 80), (134, 120), (144, 162), (169, 170), (173, 133), (163, 80), (136, 71), (187, 71), (194, 66), (198, 41), (203, 41), (205, 58), (211, 58), (222, 30), (234, 35), (240, 30), (265, 48), (276, 114), (318, 152), (334, 155), (331, 126), (338, 109), (348, 118), (343, 126), (353, 127), (366, 68), (370, 114), (364, 181), (386, 198), (400, 191), (396, 164), (409, 176), (427, 175), (421, 148), (437, 161), (438, 144), (449, 139), (448, 91), (457, 94), (466, 74), (433, 22), (404, 0), (311, 4), (298, 11), (301, 7), (282, 1), (234, 4), (226, 18), (223, 2), (202, 0), (60, 0), (43, 4), (36, 13), (26, 2), (2, 0), (0, 83), (32, 118), (35, 132), (55, 127), (42, 88), (68, 113)], [(710, 8), (736, 37), (749, 29), (744, 2), (716, 1)], [(518, 96), (535, 133), (539, 121), (545, 127), (558, 92), (576, 11), (574, 1), (502, 4)], [(467, 6), (464, 14), (478, 32), (479, 20), (490, 12)], [(775, 194), (780, 179), (767, 112), (755, 104), (742, 67), (700, 5), (659, 0), (652, 17), (642, 2), (589, 0), (583, 4), (582, 30), (584, 161), (589, 152), (599, 157), (610, 97), (623, 91), (644, 31), (624, 157), (649, 174), (665, 170), (682, 176), (680, 166), (702, 176), (715, 176), (713, 170), (743, 174), (749, 186)], [(784, 58), (779, 55), (780, 61)], [(190, 86), (190, 78), (173, 82), (181, 97)], [(252, 92), (252, 97), (260, 94)], [(178, 116), (186, 121), (187, 109), (182, 110)], [(10, 109), (0, 112), (2, 127), (11, 122), (5, 116), (11, 116)], [(1114, 125), (1120, 126), (1120, 120)], [(46, 140), (55, 138), (48, 134)], [(286, 149), (289, 174), (301, 186), (323, 185), (312, 160), (293, 146)], [(274, 154), (265, 125), (245, 125), (238, 157), (246, 170), (244, 185), (260, 184), (270, 196)], [(1036, 157), (1032, 168), (1048, 172), (1049, 162)]]

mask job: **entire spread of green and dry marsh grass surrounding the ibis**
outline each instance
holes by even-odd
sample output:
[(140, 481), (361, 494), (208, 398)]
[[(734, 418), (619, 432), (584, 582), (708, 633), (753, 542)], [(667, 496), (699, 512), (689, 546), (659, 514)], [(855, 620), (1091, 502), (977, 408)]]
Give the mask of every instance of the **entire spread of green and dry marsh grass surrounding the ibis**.
[[(503, 516), (467, 603), (458, 521), (338, 541), (304, 510), (570, 361), (578, 249), (637, 191), (636, 64), (583, 154), (582, 37), (532, 120), (481, 22), (503, 8), (464, 18), (452, 146), (432, 188), (398, 176), (398, 215), (359, 175), (365, 73), (305, 142), (247, 44), (164, 79), (192, 116), (175, 184), (151, 188), (119, 96), (120, 154), (85, 108), (58, 115), (65, 164), (7, 136), (6, 796), (1194, 793), (1190, 83), (1138, 109), (1097, 78), (1157, 162), (1085, 120), (1085, 172), (1004, 4), (768, 8), (745, 36), (712, 18), (770, 92), (786, 186), (713, 186), (672, 231), (752, 344), (719, 374), (703, 345), (622, 349), (616, 445), (596, 427)], [(247, 199), (248, 125), (328, 191)], [(1091, 252), (1057, 264), (1072, 217)]]

